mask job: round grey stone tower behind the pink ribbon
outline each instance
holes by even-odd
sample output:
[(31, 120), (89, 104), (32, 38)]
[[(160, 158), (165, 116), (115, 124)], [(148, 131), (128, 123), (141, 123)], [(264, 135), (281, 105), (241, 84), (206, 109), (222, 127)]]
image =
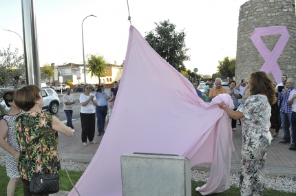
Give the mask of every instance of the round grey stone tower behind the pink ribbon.
[[(260, 52), (250, 37), (255, 28), (277, 25), (286, 26), (290, 38), (284, 51), (277, 59), (282, 74), (288, 78), (296, 78), (296, 16), (295, 0), (251, 0), (240, 6), (239, 24), (237, 29), (237, 52), (235, 80), (247, 78), (251, 72), (259, 71), (264, 64)], [(273, 51), (280, 35), (261, 36), (262, 41)], [(272, 80), (273, 74), (269, 73)]]

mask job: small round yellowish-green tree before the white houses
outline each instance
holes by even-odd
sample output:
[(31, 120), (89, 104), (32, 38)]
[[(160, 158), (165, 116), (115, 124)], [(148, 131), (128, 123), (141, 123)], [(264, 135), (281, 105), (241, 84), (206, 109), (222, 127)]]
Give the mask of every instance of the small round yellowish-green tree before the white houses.
[(104, 59), (104, 56), (99, 56), (89, 54), (87, 55), (87, 74), (90, 73), (90, 76), (97, 76), (98, 83), (101, 85), (101, 77), (104, 76), (104, 73), (107, 69), (107, 61)]

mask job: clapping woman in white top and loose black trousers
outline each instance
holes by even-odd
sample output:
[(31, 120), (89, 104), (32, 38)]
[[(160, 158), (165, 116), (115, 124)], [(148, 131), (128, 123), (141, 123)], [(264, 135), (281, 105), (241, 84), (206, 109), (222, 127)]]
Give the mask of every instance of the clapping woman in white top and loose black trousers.
[(96, 109), (94, 107), (98, 105), (96, 102), (96, 96), (91, 93), (92, 85), (85, 84), (83, 86), (83, 94), (80, 95), (80, 119), (81, 119), (81, 140), (82, 146), (87, 146), (87, 138), (91, 144), (96, 144), (94, 141), (94, 132), (96, 127)]

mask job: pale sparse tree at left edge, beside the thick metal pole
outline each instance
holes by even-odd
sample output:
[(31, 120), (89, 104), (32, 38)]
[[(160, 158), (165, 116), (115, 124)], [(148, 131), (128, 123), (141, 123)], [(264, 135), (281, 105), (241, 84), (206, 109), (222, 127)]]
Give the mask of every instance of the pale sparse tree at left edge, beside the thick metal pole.
[(25, 63), (23, 55), (19, 56), (19, 49), (10, 52), (10, 45), (7, 50), (0, 50), (0, 85), (19, 86), (19, 80), (25, 78)]

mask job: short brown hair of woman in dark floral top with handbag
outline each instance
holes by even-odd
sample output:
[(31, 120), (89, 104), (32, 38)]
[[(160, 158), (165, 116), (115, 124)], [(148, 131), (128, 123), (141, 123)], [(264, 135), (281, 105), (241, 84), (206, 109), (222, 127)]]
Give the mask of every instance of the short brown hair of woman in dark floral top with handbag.
[(41, 98), (40, 89), (36, 85), (28, 85), (18, 89), (14, 94), (14, 103), (23, 111), (29, 111), (35, 105), (35, 101)]

